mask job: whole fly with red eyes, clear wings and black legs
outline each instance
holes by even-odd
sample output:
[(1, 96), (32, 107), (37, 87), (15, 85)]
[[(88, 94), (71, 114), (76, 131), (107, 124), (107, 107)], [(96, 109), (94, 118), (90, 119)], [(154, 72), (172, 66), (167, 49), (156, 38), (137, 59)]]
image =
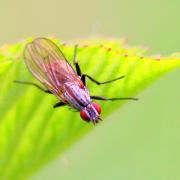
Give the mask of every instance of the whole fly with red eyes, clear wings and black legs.
[(59, 47), (46, 38), (37, 38), (27, 44), (24, 51), (24, 59), (27, 68), (45, 87), (31, 82), (15, 81), (18, 83), (31, 84), (46, 93), (54, 94), (60, 102), (54, 108), (69, 105), (80, 112), (80, 116), (85, 121), (92, 121), (96, 124), (100, 120), (101, 107), (96, 100), (137, 100), (136, 98), (105, 98), (101, 96), (90, 96), (86, 88), (86, 77), (94, 83), (107, 84), (119, 78), (98, 82), (87, 74), (81, 74), (81, 69), (76, 61), (77, 46), (74, 51), (74, 65), (76, 72), (69, 64)]

